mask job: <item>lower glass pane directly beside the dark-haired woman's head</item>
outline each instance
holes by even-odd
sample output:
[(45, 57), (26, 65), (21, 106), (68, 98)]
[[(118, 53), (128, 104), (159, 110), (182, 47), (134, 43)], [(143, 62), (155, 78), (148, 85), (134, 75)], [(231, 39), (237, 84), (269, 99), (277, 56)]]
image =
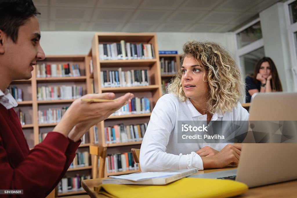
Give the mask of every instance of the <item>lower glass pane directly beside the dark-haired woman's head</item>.
[(240, 57), (240, 65), (243, 67), (243, 76), (251, 75), (254, 73), (256, 62), (265, 56), (264, 47), (254, 50)]

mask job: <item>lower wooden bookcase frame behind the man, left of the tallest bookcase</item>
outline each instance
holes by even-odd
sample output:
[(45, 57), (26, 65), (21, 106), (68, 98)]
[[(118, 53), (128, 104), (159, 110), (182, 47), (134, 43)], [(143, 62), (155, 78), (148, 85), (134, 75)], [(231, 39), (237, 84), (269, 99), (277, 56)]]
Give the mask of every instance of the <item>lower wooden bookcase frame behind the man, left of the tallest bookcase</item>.
[[(37, 64), (78, 64), (80, 75), (79, 77), (36, 77), (37, 68), (32, 71), (30, 80), (17, 80), (11, 83), (17, 88), (23, 89), (23, 102), (18, 102), (17, 111), (21, 109), (25, 113), (25, 122), (23, 132), (28, 142), (29, 148), (34, 148), (39, 143), (39, 134), (47, 133), (53, 130), (56, 123), (38, 123), (38, 110), (46, 110), (48, 108), (61, 108), (70, 106), (74, 99), (68, 100), (37, 100), (37, 88), (39, 86), (61, 86), (61, 85), (79, 85), (83, 87), (83, 95), (91, 93), (91, 74), (89, 69), (90, 57), (83, 55), (66, 55), (66, 56), (46, 56), (42, 61), (37, 61)], [(86, 143), (81, 144), (78, 151), (88, 151), (89, 145), (93, 137), (93, 129), (86, 133)], [(92, 162), (91, 162), (92, 163)], [(69, 168), (66, 176), (91, 175), (91, 164), (85, 167)], [(59, 193), (58, 196), (69, 194), (81, 194), (85, 191), (73, 191), (67, 193)]]

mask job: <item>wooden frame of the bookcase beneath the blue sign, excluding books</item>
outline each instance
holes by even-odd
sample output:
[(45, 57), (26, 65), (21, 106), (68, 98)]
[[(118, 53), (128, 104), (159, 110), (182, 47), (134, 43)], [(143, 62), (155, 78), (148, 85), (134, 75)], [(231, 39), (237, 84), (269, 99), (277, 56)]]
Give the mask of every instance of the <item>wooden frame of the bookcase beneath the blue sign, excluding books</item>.
[[(165, 87), (168, 83), (170, 83), (171, 79), (176, 75), (178, 69), (180, 69), (180, 55), (179, 54), (159, 54), (159, 60), (160, 64), (162, 59), (165, 61), (168, 61), (168, 63), (171, 63), (171, 61), (174, 61), (176, 63), (175, 65), (175, 73), (172, 72), (161, 72), (161, 83), (162, 83), (162, 94), (165, 94)], [(162, 68), (161, 68), (162, 69)]]

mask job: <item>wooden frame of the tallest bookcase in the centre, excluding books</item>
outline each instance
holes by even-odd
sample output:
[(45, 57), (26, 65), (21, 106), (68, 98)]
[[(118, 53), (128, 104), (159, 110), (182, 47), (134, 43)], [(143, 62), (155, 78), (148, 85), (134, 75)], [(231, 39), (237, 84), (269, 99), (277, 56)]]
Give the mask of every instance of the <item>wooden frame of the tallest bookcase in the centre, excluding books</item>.
[[(152, 44), (154, 47), (155, 57), (152, 59), (121, 59), (121, 60), (102, 60), (99, 57), (99, 44), (120, 43), (124, 40), (127, 43)], [(95, 33), (92, 40), (92, 48), (89, 53), (92, 56), (94, 66), (94, 89), (97, 93), (114, 92), (116, 98), (124, 93), (131, 92), (135, 97), (146, 97), (150, 101), (151, 110), (155, 106), (157, 100), (162, 96), (161, 90), (161, 74), (159, 64), (159, 54), (157, 46), (157, 36), (154, 33)], [(131, 69), (146, 69), (148, 71), (148, 86), (132, 86), (132, 87), (113, 87), (104, 88), (101, 86), (100, 71), (117, 70), (122, 71)], [(97, 124), (98, 128), (98, 144), (107, 147), (107, 154), (131, 152), (131, 148), (140, 148), (141, 141), (112, 143), (106, 144), (104, 127), (114, 126), (120, 123), (126, 125), (148, 123), (151, 113), (131, 114), (110, 116), (105, 121)], [(107, 173), (105, 168), (105, 176), (129, 174), (138, 170), (129, 170), (125, 172)]]

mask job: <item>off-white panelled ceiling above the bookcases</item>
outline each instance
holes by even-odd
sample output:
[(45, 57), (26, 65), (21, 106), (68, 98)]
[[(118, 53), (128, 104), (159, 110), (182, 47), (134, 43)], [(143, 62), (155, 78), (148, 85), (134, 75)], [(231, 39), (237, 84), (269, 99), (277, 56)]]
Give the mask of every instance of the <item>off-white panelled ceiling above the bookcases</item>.
[(33, 0), (42, 31), (226, 32), (281, 0)]

